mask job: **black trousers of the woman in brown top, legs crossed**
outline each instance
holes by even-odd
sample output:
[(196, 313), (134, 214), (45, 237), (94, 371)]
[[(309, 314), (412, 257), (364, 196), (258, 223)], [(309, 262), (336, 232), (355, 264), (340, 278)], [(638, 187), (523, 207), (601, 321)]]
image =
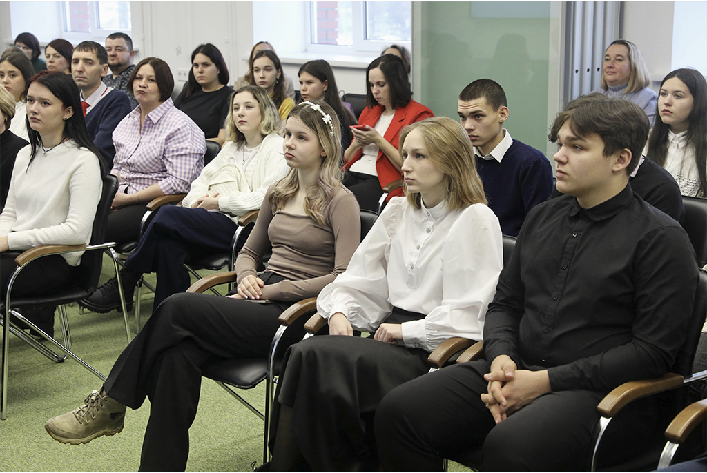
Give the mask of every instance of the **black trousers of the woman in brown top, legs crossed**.
[[(273, 275), (267, 282), (283, 279)], [(218, 359), (265, 356), (279, 327), (277, 318), (289, 305), (206, 294), (175, 294), (160, 304), (104, 384), (110, 397), (133, 409), (145, 397), (150, 399), (141, 471), (184, 471), (201, 366)], [(301, 334), (284, 342), (297, 339)]]

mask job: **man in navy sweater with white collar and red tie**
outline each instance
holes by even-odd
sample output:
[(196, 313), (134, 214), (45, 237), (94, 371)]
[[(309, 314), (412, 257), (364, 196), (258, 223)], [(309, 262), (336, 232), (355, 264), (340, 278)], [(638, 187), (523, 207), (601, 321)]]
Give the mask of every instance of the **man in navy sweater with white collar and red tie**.
[(115, 146), (113, 130), (130, 113), (130, 99), (120, 90), (107, 87), (103, 76), (108, 73), (108, 54), (93, 41), (84, 41), (74, 48), (71, 57), (71, 75), (81, 89), (81, 106), (86, 117), (86, 128), (105, 160), (107, 169), (113, 167)]

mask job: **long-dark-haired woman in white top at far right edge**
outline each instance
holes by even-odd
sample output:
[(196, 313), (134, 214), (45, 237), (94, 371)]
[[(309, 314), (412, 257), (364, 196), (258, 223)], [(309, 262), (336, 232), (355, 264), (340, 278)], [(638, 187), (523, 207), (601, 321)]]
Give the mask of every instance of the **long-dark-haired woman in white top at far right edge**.
[(695, 69), (676, 69), (660, 83), (660, 120), (646, 156), (665, 167), (683, 196), (707, 198), (707, 81)]

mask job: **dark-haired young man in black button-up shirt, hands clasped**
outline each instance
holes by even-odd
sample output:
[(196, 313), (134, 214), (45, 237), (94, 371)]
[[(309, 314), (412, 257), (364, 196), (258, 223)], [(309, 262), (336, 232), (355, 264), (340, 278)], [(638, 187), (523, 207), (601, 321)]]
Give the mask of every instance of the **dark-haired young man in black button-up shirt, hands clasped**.
[[(557, 116), (550, 138), (566, 195), (520, 229), (486, 313), (486, 359), (384, 398), (383, 471), (432, 471), (482, 447), (484, 471), (582, 469), (602, 397), (670, 370), (698, 276), (684, 230), (631, 191), (647, 136), (648, 119), (626, 100)], [(648, 427), (657, 410), (653, 400), (630, 409)]]

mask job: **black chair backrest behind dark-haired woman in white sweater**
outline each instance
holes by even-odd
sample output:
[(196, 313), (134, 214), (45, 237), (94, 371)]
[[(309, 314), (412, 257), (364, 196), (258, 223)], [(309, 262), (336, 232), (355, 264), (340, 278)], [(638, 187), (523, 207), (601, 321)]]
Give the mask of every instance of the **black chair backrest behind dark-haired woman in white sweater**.
[[(103, 191), (98, 201), (98, 208), (93, 219), (93, 230), (90, 236), (90, 244), (98, 245), (105, 243), (105, 227), (108, 223), (110, 205), (113, 202), (115, 192), (118, 190), (118, 178), (113, 174), (103, 176)], [(103, 265), (103, 251), (86, 251), (81, 256), (81, 264), (76, 268), (76, 285), (88, 292), (93, 292), (98, 287), (100, 270)]]

